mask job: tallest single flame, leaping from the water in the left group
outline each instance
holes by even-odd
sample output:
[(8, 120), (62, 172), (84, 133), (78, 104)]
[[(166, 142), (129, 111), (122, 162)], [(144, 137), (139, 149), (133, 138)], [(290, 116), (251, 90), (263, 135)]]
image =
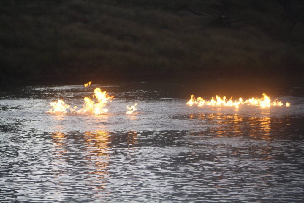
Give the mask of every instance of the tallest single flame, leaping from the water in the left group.
[(103, 114), (109, 111), (108, 109), (103, 109), (103, 107), (108, 103), (108, 100), (112, 99), (114, 96), (109, 96), (106, 91), (101, 91), (99, 87), (95, 88), (94, 93), (97, 102), (94, 103), (90, 97), (85, 97), (85, 103), (83, 104), (82, 109), (78, 110), (77, 113), (90, 112), (93, 114)]

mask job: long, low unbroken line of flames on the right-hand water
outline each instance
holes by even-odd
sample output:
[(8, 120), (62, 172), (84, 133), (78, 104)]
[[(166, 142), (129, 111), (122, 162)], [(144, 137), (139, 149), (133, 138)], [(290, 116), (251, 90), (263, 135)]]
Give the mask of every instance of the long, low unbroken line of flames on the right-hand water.
[[(267, 96), (265, 93), (263, 93), (262, 98), (254, 98), (252, 97), (251, 99), (248, 100), (243, 100), (242, 98), (239, 98), (239, 100), (232, 100), (232, 97), (227, 100), (226, 96), (223, 96), (223, 99), (219, 96), (216, 95), (216, 98), (212, 97), (211, 100), (204, 100), (202, 97), (198, 97), (195, 99), (194, 95), (191, 95), (191, 99), (187, 102), (187, 105), (193, 106), (196, 105), (198, 107), (202, 106), (229, 106), (229, 107), (236, 107), (238, 108), (240, 105), (253, 105), (253, 106), (260, 106), (262, 108), (265, 107), (271, 107), (271, 106), (277, 106), (277, 107), (282, 107), (283, 103), (281, 101), (271, 101), (270, 97)], [(286, 102), (285, 103), (286, 107), (290, 106), (290, 103)]]

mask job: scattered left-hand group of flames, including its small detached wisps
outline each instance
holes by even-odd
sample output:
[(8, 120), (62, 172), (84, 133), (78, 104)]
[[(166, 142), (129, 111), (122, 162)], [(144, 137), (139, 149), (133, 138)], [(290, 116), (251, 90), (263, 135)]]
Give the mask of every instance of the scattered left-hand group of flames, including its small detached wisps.
[[(89, 87), (92, 82), (85, 83), (85, 87)], [(68, 111), (74, 114), (83, 114), (83, 113), (89, 113), (89, 114), (105, 114), (109, 110), (104, 108), (105, 105), (110, 101), (114, 96), (109, 96), (109, 94), (106, 91), (102, 91), (99, 87), (95, 88), (93, 98), (96, 98), (96, 102), (93, 101), (90, 97), (86, 96), (83, 98), (85, 100), (85, 103), (83, 104), (81, 109), (78, 109), (77, 106), (74, 106), (71, 108), (71, 105), (67, 105), (63, 100), (57, 100), (54, 102), (51, 102), (50, 105), (52, 108), (47, 111), (47, 113), (60, 113), (60, 114), (66, 114)], [(132, 114), (134, 111), (136, 111), (134, 104), (133, 106), (129, 107), (127, 105), (128, 111), (126, 114)]]

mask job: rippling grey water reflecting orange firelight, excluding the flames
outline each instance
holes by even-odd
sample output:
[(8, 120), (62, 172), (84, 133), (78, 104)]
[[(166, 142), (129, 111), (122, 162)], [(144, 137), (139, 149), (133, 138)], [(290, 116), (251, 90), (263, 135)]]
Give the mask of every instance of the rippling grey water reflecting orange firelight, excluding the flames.
[[(59, 98), (81, 106), (97, 86), (116, 98), (108, 114), (45, 113)], [(0, 201), (304, 201), (303, 89), (226, 92), (291, 106), (189, 107), (192, 93), (221, 92), (175, 84), (2, 88)]]

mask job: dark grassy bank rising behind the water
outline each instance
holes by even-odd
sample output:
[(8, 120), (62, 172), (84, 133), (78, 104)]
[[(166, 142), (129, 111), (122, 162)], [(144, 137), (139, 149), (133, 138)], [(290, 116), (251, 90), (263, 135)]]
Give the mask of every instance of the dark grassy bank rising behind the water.
[(302, 0), (2, 0), (1, 82), (303, 77)]

